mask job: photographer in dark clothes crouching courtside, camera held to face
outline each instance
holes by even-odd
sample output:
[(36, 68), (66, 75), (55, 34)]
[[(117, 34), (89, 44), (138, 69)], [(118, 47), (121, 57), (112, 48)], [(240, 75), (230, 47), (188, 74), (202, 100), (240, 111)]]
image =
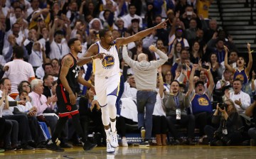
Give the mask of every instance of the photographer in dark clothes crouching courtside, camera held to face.
[(219, 124), (217, 130), (208, 125), (204, 128), (209, 138), (210, 146), (238, 145), (241, 142), (239, 130), (242, 127), (242, 121), (232, 100), (227, 99), (224, 103), (217, 104), (212, 122), (216, 125)]

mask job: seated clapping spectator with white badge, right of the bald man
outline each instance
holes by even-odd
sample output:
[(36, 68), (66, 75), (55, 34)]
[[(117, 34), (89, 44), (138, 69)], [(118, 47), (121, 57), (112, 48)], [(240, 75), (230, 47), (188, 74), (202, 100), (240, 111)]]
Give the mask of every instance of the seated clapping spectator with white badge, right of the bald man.
[(184, 143), (194, 145), (195, 118), (193, 114), (187, 114), (189, 107), (188, 94), (180, 92), (179, 82), (174, 80), (171, 82), (170, 94), (166, 95), (164, 106), (166, 108), (166, 118), (169, 124), (169, 130), (174, 136), (174, 144), (183, 143), (179, 136), (175, 124), (186, 126), (188, 130), (188, 140)]

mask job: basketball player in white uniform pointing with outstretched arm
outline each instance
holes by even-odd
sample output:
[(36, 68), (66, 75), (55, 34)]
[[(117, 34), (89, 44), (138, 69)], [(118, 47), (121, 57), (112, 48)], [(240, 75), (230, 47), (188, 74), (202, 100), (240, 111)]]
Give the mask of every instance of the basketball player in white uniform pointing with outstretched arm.
[[(101, 107), (102, 123), (107, 136), (107, 153), (114, 153), (114, 148), (118, 146), (115, 103), (119, 92), (120, 71), (117, 50), (120, 46), (140, 40), (161, 28), (166, 28), (166, 21), (127, 38), (117, 38), (116, 40), (113, 39), (111, 31), (103, 29), (99, 32), (100, 41), (92, 44), (85, 53), (85, 57), (92, 57), (99, 53), (104, 55), (102, 60), (93, 57), (91, 60), (93, 60), (93, 72), (95, 73), (95, 92)], [(87, 62), (90, 60), (81, 59), (78, 60), (78, 65), (85, 65)]]

